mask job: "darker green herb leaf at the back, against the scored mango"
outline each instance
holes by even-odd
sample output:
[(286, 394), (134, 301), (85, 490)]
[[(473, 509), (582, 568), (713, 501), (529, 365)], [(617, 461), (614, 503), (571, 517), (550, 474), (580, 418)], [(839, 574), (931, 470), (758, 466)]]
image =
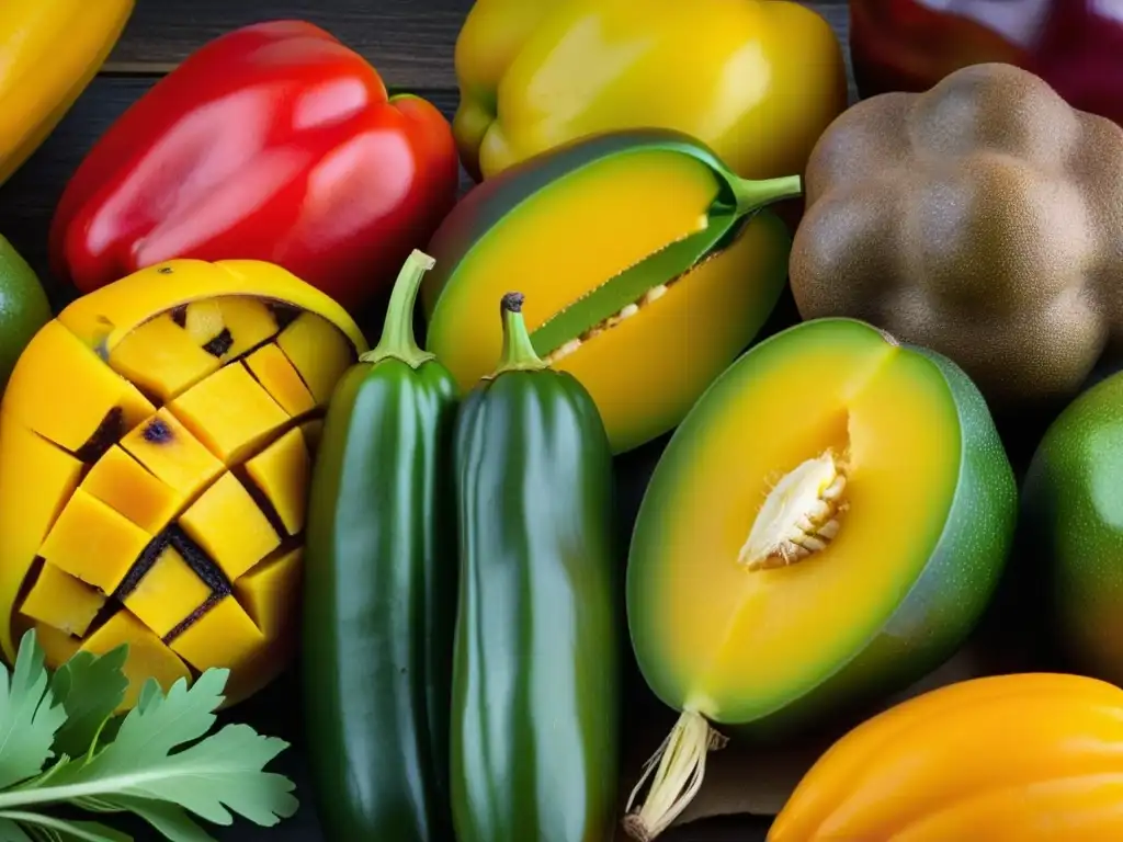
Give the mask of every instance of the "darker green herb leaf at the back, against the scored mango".
[(51, 690), (66, 708), (66, 723), (55, 734), (57, 753), (92, 756), (102, 729), (128, 690), (124, 671), (128, 656), (128, 643), (101, 656), (80, 651), (55, 670)]

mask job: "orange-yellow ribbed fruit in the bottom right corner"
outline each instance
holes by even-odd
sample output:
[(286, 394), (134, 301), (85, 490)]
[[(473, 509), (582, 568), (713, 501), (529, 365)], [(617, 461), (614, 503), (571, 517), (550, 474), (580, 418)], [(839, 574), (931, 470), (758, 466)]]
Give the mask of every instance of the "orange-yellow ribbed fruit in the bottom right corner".
[(864, 722), (807, 771), (768, 842), (1123, 839), (1123, 690), (976, 678)]

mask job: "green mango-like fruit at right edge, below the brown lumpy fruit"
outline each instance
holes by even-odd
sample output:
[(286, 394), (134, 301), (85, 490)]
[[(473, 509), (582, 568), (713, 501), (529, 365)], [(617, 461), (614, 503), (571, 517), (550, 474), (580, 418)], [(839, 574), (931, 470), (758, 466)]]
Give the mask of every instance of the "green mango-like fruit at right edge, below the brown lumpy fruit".
[(1053, 643), (1081, 672), (1123, 681), (1123, 374), (1053, 421), (1022, 484), (1019, 543)]

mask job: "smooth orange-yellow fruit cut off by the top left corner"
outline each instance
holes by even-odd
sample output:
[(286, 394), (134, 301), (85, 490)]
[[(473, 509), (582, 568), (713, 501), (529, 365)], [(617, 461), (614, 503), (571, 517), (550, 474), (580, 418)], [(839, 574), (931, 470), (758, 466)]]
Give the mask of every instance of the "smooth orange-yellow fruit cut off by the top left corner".
[(101, 68), (135, 0), (0, 2), (0, 184)]

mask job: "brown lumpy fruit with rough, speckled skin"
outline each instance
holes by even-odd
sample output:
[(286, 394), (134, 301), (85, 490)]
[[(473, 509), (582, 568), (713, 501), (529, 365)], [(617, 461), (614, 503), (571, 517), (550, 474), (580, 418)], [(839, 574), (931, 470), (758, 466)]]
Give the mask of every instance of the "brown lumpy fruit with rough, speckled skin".
[(853, 106), (804, 184), (801, 315), (940, 351), (997, 410), (1075, 394), (1123, 333), (1123, 129), (1026, 71)]

